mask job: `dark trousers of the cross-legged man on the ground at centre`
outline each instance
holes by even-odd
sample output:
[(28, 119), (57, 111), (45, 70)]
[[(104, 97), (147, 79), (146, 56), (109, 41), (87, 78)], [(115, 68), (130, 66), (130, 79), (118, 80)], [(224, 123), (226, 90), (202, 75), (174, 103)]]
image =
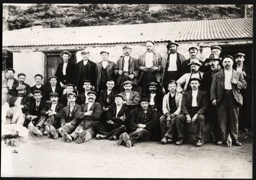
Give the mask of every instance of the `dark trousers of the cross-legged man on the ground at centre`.
[(116, 135), (116, 137), (119, 137), (120, 134), (122, 134), (126, 131), (126, 127), (124, 125), (114, 127), (113, 124), (100, 123), (98, 121), (96, 121), (94, 123), (94, 127), (95, 127), (96, 131), (99, 132), (99, 134), (105, 135), (105, 137), (109, 140), (115, 140), (113, 138), (115, 135)]

